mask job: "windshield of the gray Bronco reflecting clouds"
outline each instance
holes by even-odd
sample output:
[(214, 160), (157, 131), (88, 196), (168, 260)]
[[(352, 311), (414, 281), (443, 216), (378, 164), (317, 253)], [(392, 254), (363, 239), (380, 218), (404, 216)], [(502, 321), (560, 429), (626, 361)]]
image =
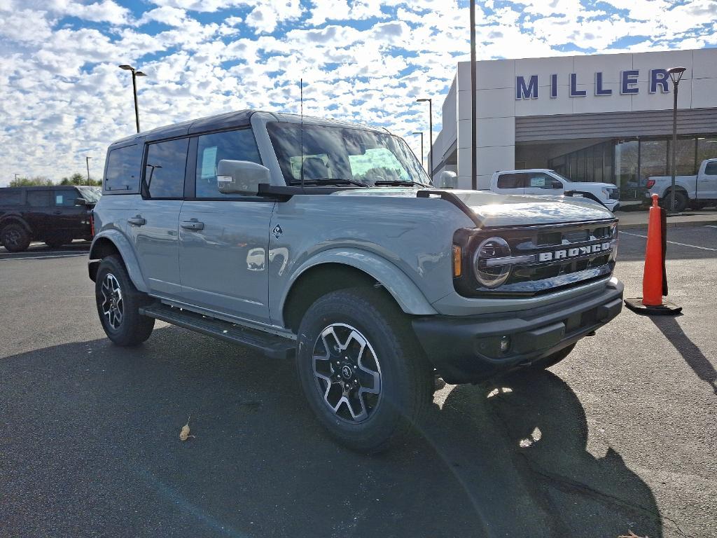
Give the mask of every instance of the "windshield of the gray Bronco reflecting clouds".
[(307, 183), (430, 184), (407, 143), (388, 133), (316, 125), (303, 126), (302, 133), (300, 123), (281, 122), (267, 123), (267, 131), (287, 184), (300, 184), (302, 172)]

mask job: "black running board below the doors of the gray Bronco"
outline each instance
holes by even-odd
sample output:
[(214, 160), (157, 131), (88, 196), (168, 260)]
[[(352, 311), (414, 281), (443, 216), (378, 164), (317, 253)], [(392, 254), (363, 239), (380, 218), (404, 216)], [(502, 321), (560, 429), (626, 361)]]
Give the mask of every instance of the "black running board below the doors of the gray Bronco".
[(190, 331), (256, 349), (272, 359), (290, 359), (296, 349), (295, 341), (282, 336), (248, 329), (229, 323), (229, 321), (202, 316), (199, 313), (173, 306), (153, 304), (140, 308), (139, 312), (143, 316), (166, 321)]

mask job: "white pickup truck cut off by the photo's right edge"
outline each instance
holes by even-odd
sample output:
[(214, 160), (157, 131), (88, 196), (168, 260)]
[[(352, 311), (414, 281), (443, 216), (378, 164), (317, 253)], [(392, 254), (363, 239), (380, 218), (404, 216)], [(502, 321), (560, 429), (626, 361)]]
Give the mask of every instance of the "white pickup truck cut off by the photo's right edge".
[[(672, 176), (651, 176), (647, 178), (647, 192), (660, 197), (663, 207), (670, 206)], [(702, 209), (717, 204), (717, 159), (705, 159), (696, 176), (675, 177), (675, 211), (684, 211), (685, 207)]]

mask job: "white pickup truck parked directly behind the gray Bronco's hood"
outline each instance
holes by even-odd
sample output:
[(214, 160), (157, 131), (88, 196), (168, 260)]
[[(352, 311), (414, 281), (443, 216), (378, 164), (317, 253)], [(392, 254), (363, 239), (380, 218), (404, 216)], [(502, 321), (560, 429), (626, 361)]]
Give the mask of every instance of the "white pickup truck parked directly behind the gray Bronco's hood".
[(498, 194), (581, 196), (602, 204), (610, 211), (617, 211), (620, 205), (617, 185), (571, 181), (554, 170), (544, 168), (497, 171), (490, 179), (490, 190)]

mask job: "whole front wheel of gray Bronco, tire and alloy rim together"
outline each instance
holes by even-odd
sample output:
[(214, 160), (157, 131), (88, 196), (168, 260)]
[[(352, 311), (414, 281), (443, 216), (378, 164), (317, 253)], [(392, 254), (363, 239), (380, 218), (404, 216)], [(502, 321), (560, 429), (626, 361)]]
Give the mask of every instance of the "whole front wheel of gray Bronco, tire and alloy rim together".
[(310, 306), (298, 334), (303, 392), (319, 422), (348, 448), (386, 450), (432, 400), (432, 369), (385, 291), (328, 293)]

